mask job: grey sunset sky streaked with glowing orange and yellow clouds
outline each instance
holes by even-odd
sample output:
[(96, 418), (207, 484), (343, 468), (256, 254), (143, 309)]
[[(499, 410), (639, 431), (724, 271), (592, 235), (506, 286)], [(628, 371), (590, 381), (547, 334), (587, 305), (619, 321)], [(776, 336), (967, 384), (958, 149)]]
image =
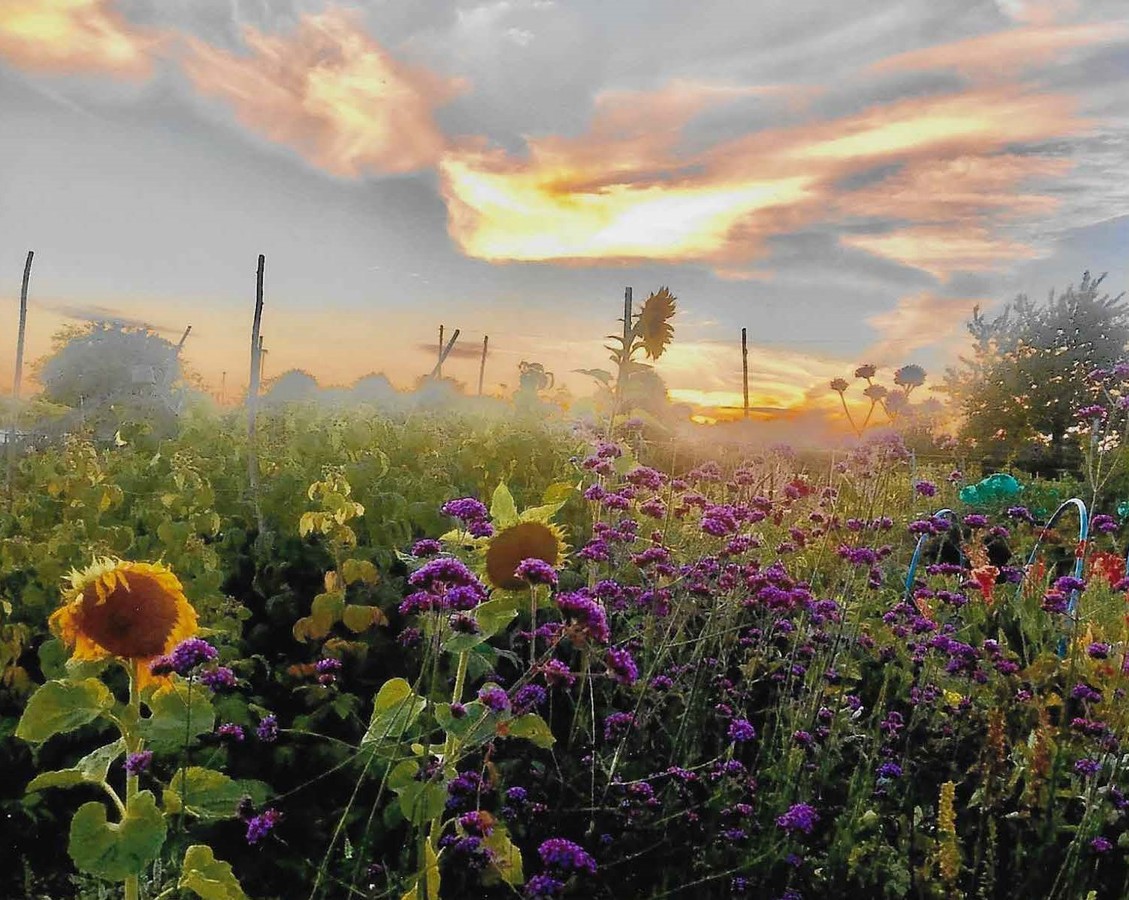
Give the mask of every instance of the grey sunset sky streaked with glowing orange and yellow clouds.
[(677, 400), (830, 410), (939, 381), (977, 305), (1129, 287), (1123, 0), (0, 0), (0, 390), (146, 323), (228, 399), (265, 375), (487, 390), (609, 365), (679, 298)]

